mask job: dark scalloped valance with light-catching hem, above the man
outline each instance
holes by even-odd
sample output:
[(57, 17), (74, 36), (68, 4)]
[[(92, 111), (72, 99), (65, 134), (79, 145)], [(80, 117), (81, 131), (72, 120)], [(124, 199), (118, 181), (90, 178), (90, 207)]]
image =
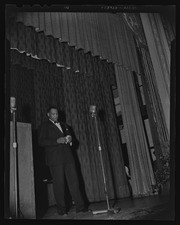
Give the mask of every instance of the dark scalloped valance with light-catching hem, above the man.
[[(31, 68), (37, 64), (35, 59), (42, 59), (52, 63), (53, 68), (57, 66), (86, 75), (92, 75), (92, 67), (96, 61), (101, 61), (104, 66), (109, 64), (109, 68), (113, 67), (113, 63), (107, 62), (107, 60), (100, 60), (100, 57), (94, 57), (90, 52), (85, 53), (83, 49), (75, 49), (68, 43), (59, 42), (52, 36), (47, 37), (43, 32), (37, 33), (33, 27), (26, 27), (20, 22), (11, 21), (11, 26), (8, 27), (6, 34), (12, 49), (16, 49), (31, 58), (26, 60), (26, 57), (22, 57), (16, 51), (11, 51), (11, 59), (14, 64), (21, 63), (23, 60), (23, 65)], [(109, 77), (110, 82), (115, 83), (113, 72), (109, 73)]]

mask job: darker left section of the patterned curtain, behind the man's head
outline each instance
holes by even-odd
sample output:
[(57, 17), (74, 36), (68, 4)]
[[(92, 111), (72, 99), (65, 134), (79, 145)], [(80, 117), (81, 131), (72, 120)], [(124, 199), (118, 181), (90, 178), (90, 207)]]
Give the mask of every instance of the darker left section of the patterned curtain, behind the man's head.
[(62, 71), (46, 60), (11, 50), (11, 96), (17, 99), (17, 119), (37, 129), (50, 104), (64, 108)]

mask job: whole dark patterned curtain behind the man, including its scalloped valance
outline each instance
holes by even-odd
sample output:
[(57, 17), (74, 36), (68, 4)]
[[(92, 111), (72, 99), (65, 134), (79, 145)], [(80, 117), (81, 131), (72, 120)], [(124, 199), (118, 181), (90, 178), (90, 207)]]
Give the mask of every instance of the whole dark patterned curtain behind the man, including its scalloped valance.
[(89, 115), (89, 106), (95, 104), (109, 197), (129, 196), (110, 88), (115, 84), (114, 65), (13, 20), (6, 36), (15, 48), (11, 49), (11, 96), (17, 98), (17, 120), (32, 124), (37, 177), (43, 173), (37, 128), (47, 107), (55, 104), (76, 135), (73, 151), (87, 198), (105, 200), (95, 124)]

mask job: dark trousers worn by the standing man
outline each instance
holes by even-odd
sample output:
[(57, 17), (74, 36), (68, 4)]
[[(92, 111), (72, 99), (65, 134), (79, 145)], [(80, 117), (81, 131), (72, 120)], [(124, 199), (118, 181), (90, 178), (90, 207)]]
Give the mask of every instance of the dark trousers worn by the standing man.
[(50, 166), (50, 172), (53, 178), (54, 197), (59, 209), (65, 208), (65, 178), (71, 193), (71, 197), (75, 202), (76, 209), (84, 207), (78, 177), (74, 163), (64, 163), (57, 166)]

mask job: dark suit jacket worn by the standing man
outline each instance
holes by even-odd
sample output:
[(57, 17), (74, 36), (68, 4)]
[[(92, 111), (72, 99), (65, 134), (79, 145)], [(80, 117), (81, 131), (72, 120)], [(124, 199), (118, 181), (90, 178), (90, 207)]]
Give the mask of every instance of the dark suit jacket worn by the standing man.
[(73, 155), (69, 144), (59, 144), (57, 139), (70, 134), (68, 126), (60, 122), (63, 133), (50, 120), (43, 123), (39, 130), (39, 145), (44, 147), (47, 165), (55, 166), (60, 163), (73, 163)]

